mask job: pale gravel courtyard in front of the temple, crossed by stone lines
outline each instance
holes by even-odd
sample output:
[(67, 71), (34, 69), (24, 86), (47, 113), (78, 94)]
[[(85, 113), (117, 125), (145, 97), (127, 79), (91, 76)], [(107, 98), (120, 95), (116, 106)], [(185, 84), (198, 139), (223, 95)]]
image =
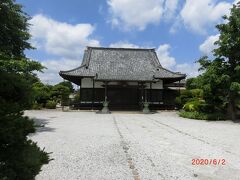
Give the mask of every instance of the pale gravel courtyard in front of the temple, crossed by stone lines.
[[(175, 112), (26, 111), (44, 125), (30, 136), (54, 158), (37, 180), (240, 179), (240, 123)], [(192, 165), (222, 159), (225, 165)]]

